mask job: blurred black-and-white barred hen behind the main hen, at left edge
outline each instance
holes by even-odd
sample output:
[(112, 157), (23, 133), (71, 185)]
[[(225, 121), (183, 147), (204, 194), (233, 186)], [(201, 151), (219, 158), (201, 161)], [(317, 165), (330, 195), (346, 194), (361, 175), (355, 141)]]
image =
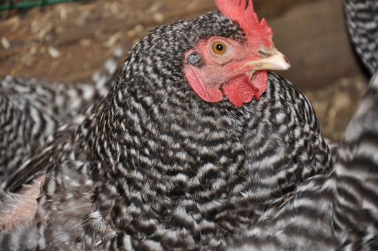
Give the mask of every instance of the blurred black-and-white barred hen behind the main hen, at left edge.
[(45, 83), (5, 76), (0, 80), (0, 184), (43, 146), (59, 125), (80, 122), (84, 109), (109, 91), (122, 50), (115, 50), (93, 83)]

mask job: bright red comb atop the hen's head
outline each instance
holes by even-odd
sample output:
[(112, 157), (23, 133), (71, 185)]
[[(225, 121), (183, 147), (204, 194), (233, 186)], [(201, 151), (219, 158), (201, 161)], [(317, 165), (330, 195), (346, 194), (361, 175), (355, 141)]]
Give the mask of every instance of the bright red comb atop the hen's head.
[(252, 39), (256, 32), (273, 36), (267, 21), (265, 19), (258, 21), (253, 0), (215, 0), (215, 4), (225, 17), (238, 23), (247, 35), (247, 39)]

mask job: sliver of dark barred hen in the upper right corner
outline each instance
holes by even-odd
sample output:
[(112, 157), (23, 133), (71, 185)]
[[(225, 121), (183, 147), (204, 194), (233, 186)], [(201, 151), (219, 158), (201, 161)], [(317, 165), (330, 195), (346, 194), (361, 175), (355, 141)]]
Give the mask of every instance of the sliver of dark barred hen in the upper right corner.
[(355, 50), (370, 74), (378, 69), (378, 0), (344, 0)]

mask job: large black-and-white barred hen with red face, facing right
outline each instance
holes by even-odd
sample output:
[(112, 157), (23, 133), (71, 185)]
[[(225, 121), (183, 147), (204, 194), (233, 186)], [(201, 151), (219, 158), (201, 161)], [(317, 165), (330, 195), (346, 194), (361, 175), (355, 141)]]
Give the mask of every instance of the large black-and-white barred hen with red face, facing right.
[(152, 30), (85, 122), (14, 173), (5, 190), (34, 183), (1, 210), (1, 248), (225, 248), (329, 168), (311, 104), (267, 72), (289, 67), (271, 28), (252, 1), (216, 5)]

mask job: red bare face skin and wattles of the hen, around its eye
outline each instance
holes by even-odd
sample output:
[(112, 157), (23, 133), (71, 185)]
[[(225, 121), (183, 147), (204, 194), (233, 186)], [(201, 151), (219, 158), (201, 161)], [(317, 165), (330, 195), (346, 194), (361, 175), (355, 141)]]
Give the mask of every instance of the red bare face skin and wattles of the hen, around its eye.
[[(254, 74), (252, 66), (246, 63), (265, 58), (266, 54), (274, 50), (271, 36), (254, 36), (256, 39), (248, 39), (246, 44), (220, 36), (212, 36), (201, 41), (192, 50), (185, 54), (185, 62), (192, 53), (201, 55), (203, 65), (197, 67), (186, 64), (184, 72), (192, 89), (207, 102), (220, 102), (223, 95), (236, 107), (251, 102), (254, 97), (260, 99), (267, 90), (267, 71), (259, 71)], [(213, 43), (222, 42), (227, 50), (224, 54), (215, 54), (212, 50)]]

